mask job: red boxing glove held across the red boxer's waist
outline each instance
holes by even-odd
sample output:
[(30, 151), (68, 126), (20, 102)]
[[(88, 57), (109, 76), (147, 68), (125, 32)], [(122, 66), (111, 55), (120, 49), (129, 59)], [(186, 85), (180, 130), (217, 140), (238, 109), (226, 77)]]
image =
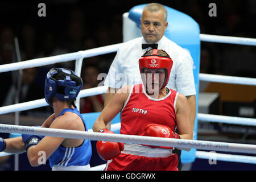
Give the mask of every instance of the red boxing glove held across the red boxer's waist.
[[(163, 138), (176, 138), (180, 139), (180, 135), (173, 132), (170, 127), (158, 124), (150, 124), (146, 127), (143, 136), (148, 137), (163, 137)], [(156, 148), (158, 146), (150, 146)], [(159, 148), (174, 149), (174, 147), (159, 146)]]

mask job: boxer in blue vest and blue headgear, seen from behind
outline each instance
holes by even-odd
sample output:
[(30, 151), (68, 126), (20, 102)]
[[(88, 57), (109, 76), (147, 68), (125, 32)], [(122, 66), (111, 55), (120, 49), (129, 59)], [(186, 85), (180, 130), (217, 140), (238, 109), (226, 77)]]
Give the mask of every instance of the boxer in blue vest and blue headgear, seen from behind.
[[(76, 108), (75, 99), (82, 88), (82, 79), (71, 69), (52, 68), (46, 76), (44, 95), (54, 113), (42, 127), (87, 131), (85, 121)], [(27, 151), (31, 166), (39, 166), (39, 152), (45, 152), (52, 170), (88, 170), (92, 156), (90, 140), (27, 135), (0, 139), (0, 151)]]

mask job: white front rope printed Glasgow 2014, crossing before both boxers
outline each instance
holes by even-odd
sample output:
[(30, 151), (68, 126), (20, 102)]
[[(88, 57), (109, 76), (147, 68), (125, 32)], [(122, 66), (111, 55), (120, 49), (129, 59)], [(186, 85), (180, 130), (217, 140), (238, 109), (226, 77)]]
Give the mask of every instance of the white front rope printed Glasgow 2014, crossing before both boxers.
[(51, 137), (61, 137), (61, 138), (105, 140), (105, 141), (111, 141), (111, 142), (148, 144), (153, 146), (197, 148), (197, 149), (203, 149), (203, 150), (229, 151), (229, 152), (242, 152), (247, 154), (256, 154), (255, 144), (240, 144), (240, 143), (211, 142), (211, 141), (203, 141), (203, 140), (144, 137), (144, 136), (137, 136), (137, 135), (106, 134), (106, 133), (94, 133), (94, 132), (88, 132), (88, 131), (48, 129), (43, 127), (4, 125), (4, 124), (0, 124), (0, 132), (47, 135)]

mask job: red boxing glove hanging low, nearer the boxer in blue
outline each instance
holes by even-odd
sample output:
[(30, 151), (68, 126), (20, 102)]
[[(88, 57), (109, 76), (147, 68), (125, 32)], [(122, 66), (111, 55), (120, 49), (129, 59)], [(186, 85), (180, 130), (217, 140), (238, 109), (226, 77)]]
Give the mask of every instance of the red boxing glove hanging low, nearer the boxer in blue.
[[(108, 129), (102, 129), (100, 133), (111, 133), (112, 131)], [(123, 143), (118, 142), (108, 142), (108, 141), (98, 141), (96, 144), (98, 155), (100, 155), (103, 160), (110, 160), (121, 154), (121, 151), (125, 148)]]

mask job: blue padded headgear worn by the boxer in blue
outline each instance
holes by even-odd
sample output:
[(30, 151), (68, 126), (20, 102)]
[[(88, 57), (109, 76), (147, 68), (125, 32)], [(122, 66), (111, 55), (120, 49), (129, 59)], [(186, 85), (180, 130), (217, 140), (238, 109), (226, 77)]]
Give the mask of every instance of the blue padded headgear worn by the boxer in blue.
[[(56, 79), (57, 75), (64, 77), (63, 80)], [(55, 76), (55, 78), (53, 78)], [(82, 88), (82, 78), (68, 68), (52, 68), (46, 75), (44, 86), (44, 97), (49, 105), (51, 98), (56, 96), (58, 100), (73, 100)], [(74, 104), (75, 106), (75, 104)]]

